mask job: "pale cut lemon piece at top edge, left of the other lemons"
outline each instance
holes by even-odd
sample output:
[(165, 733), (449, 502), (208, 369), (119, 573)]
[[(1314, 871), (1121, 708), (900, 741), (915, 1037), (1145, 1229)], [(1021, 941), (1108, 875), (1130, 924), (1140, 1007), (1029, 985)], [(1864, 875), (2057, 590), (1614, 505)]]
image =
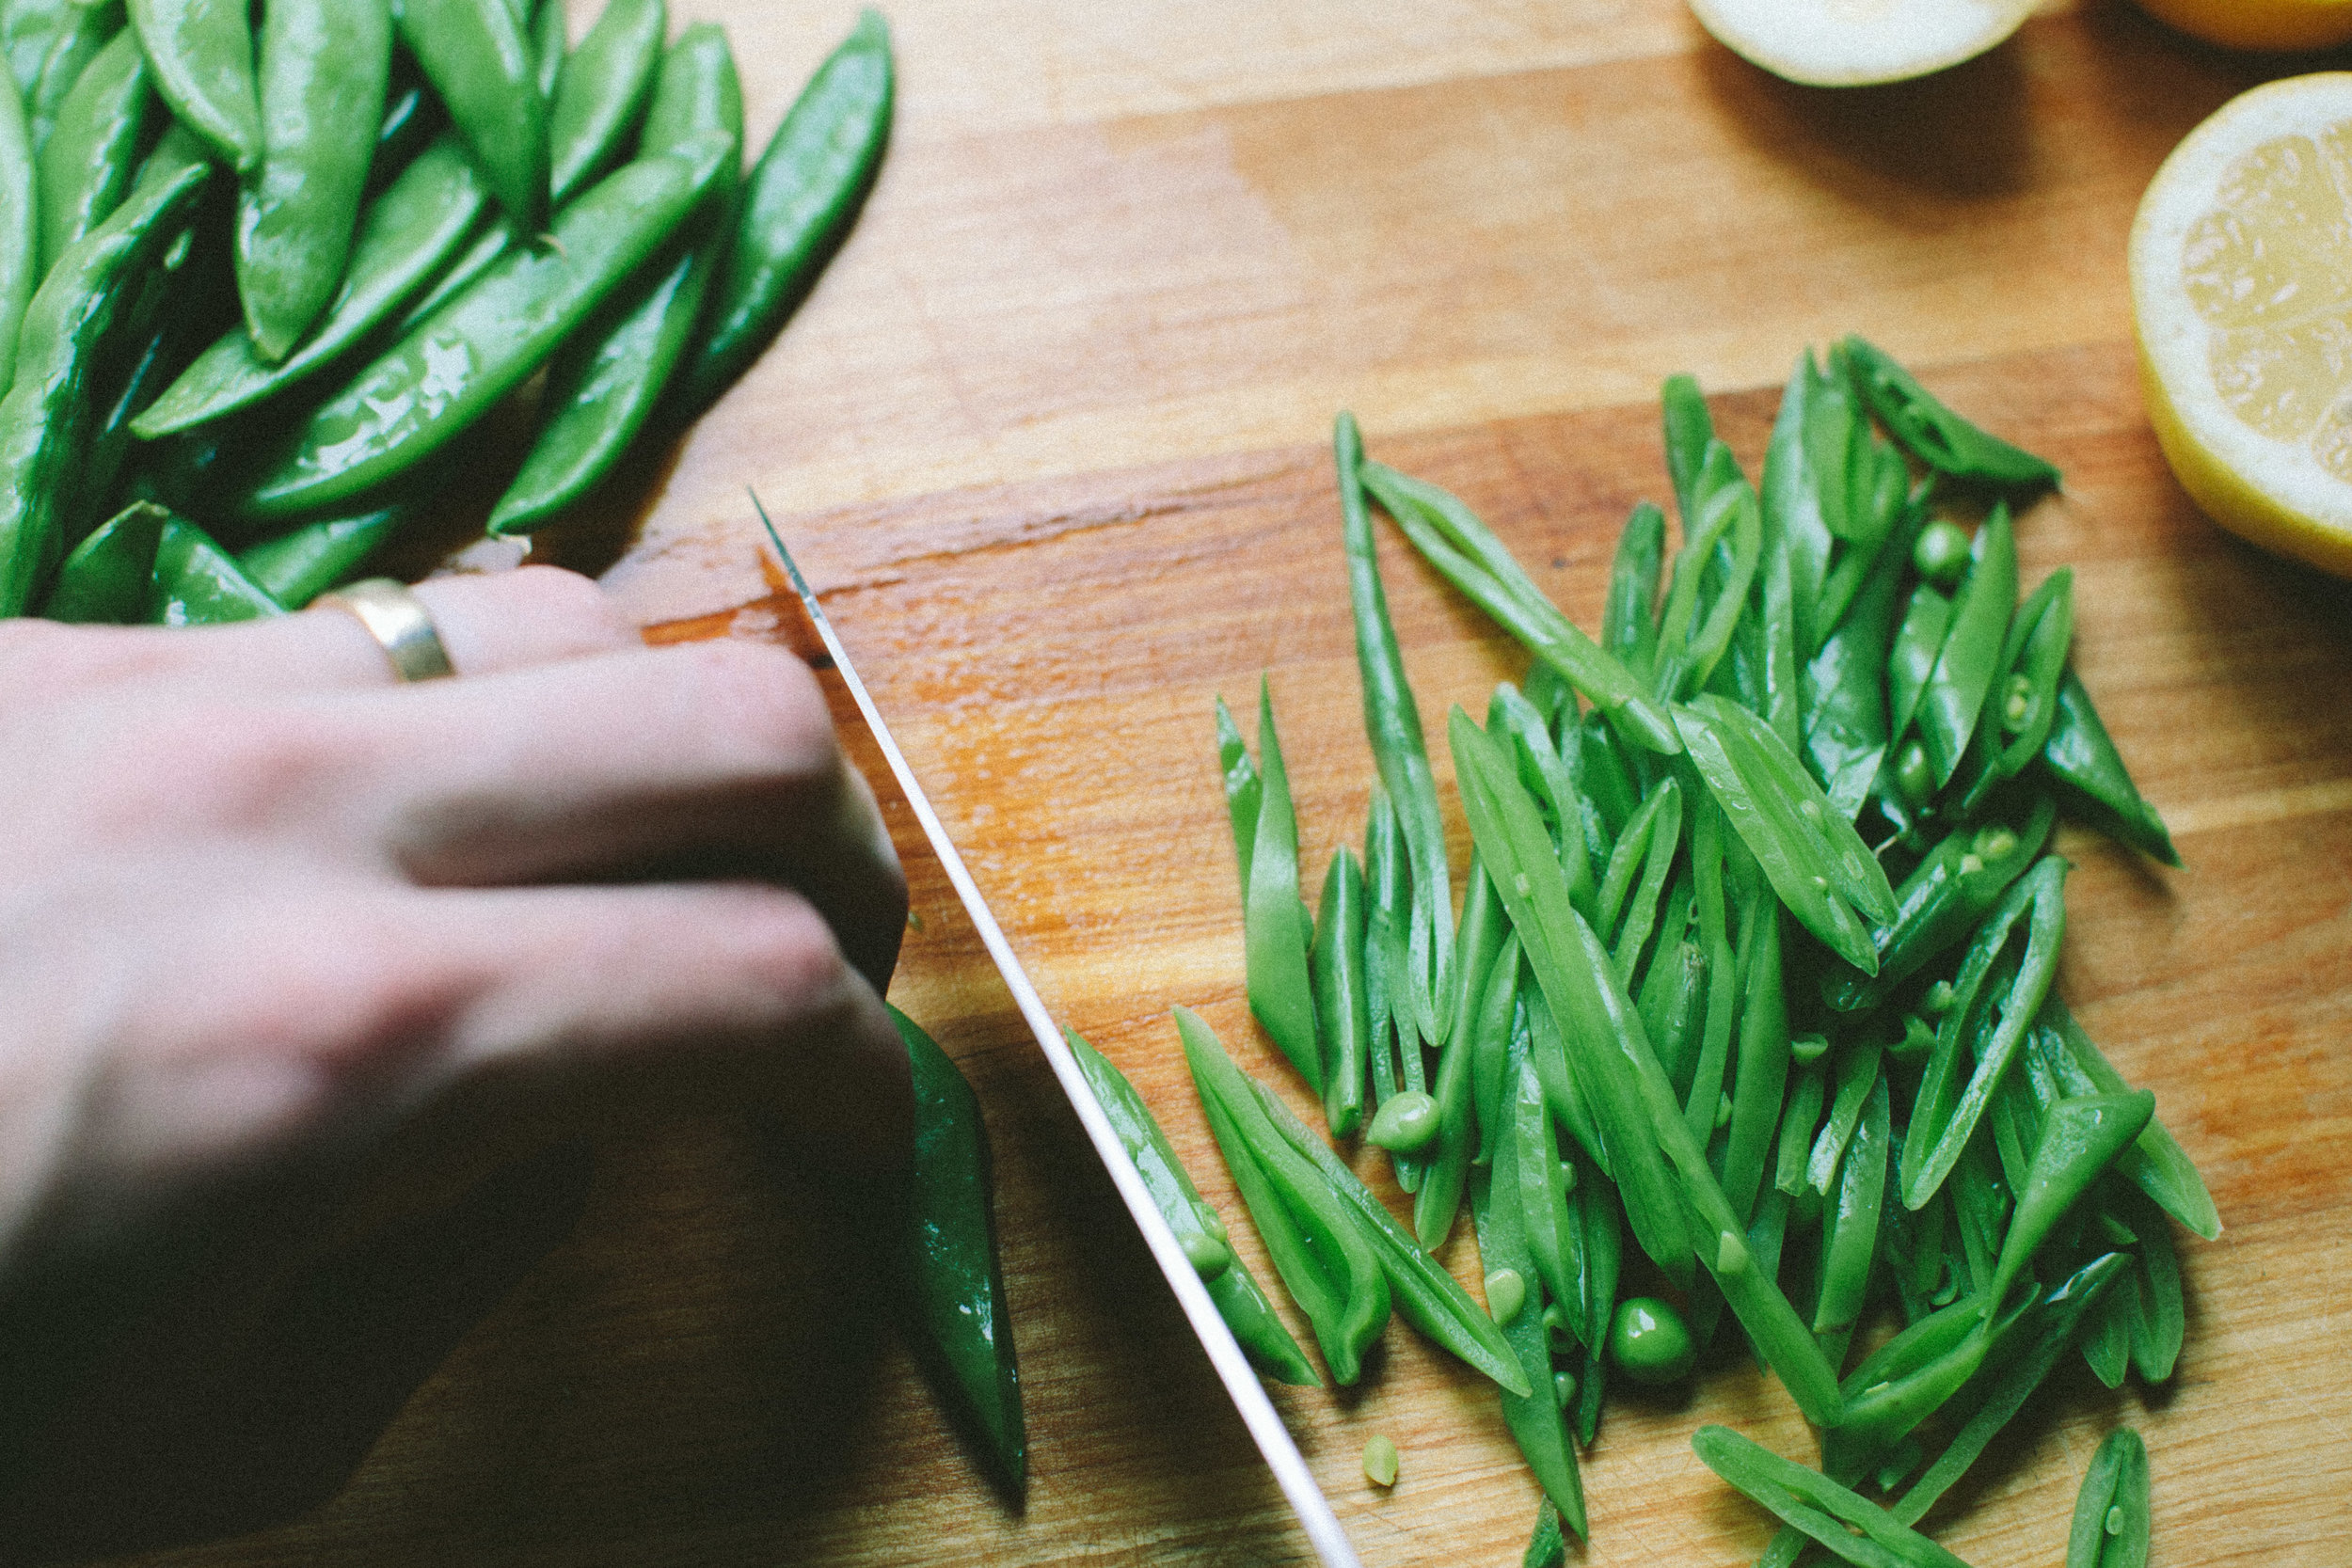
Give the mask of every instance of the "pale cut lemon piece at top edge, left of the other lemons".
[(1806, 87), (1900, 82), (1973, 59), (2034, 0), (1691, 0), (1733, 54)]

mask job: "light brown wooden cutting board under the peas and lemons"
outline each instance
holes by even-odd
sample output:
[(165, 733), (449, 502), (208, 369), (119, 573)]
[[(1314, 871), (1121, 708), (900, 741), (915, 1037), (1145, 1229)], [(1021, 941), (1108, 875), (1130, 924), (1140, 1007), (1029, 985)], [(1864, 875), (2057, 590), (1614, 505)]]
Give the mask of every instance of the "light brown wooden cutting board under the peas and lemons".
[[(677, 9), (727, 21), (755, 134), (851, 19)], [(2060, 1561), (2091, 1446), (2124, 1420), (2152, 1453), (2157, 1563), (2352, 1561), (2352, 592), (2173, 487), (2122, 263), (2178, 136), (2314, 63), (2206, 52), (2122, 2), (1858, 92), (1757, 73), (1677, 0), (903, 0), (894, 24), (898, 132), (856, 235), (647, 508), (541, 557), (602, 571), (656, 637), (795, 637), (757, 487), (1047, 1001), (1237, 1215), (1167, 1009), (1298, 1091), (1242, 1001), (1209, 710), (1272, 679), (1319, 882), (1371, 780), (1331, 414), (1463, 494), (1592, 625), (1628, 505), (1665, 494), (1658, 381), (1696, 371), (1755, 465), (1799, 346), (1863, 331), (2065, 468), (2020, 522), (2025, 581), (2077, 569), (2077, 665), (2187, 870), (2063, 837), (2060, 990), (2157, 1091), (2227, 1222), (2183, 1239), (2173, 1382), (2107, 1394), (2077, 1366), (1938, 1535), (1980, 1568)], [(1381, 550), (1425, 719), (1482, 710), (1524, 656), (1395, 536)], [(823, 1185), (694, 1124), (604, 1152), (579, 1237), (339, 1500), (148, 1561), (1308, 1561), (887, 811), (920, 919), (894, 999), (964, 1063), (995, 1138), (1025, 1512), (870, 1333)], [(1446, 1258), (1475, 1274), (1463, 1239)], [(1385, 1345), (1357, 1389), (1275, 1394), (1364, 1561), (1517, 1563), (1536, 1488), (1491, 1389), (1402, 1326)], [(1583, 1561), (1752, 1561), (1766, 1519), (1689, 1450), (1708, 1420), (1813, 1453), (1743, 1368), (1616, 1399)], [(1374, 1432), (1404, 1453), (1395, 1490), (1362, 1479)]]

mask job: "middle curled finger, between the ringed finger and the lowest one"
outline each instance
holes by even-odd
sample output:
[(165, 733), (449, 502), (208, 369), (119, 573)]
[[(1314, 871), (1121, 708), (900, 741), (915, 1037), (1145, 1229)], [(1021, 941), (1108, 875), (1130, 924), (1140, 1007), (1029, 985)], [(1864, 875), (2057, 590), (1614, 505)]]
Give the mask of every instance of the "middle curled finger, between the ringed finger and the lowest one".
[(365, 809), (416, 882), (762, 877), (800, 889), (880, 990), (906, 877), (816, 677), (682, 644), (374, 698)]

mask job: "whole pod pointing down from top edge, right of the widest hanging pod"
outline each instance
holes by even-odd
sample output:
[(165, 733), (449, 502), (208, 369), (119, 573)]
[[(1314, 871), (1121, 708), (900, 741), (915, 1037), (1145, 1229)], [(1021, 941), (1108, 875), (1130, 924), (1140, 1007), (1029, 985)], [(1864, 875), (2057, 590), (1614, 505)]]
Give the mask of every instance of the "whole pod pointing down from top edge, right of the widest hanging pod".
[(400, 38), (522, 233), (548, 221), (548, 101), (508, 0), (405, 0)]

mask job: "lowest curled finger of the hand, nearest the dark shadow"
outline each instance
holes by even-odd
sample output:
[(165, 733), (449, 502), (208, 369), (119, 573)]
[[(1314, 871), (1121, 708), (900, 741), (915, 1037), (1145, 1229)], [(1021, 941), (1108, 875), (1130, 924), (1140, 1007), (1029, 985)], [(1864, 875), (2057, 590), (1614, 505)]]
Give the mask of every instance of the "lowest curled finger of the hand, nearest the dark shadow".
[(783, 889), (355, 882), (228, 903), (158, 961), (174, 978), (113, 1030), (132, 1044), (68, 1161), (101, 1206), (419, 1117), (437, 1128), (412, 1147), (428, 1199), (600, 1126), (717, 1107), (774, 1110), (851, 1168), (906, 1159), (906, 1046)]

